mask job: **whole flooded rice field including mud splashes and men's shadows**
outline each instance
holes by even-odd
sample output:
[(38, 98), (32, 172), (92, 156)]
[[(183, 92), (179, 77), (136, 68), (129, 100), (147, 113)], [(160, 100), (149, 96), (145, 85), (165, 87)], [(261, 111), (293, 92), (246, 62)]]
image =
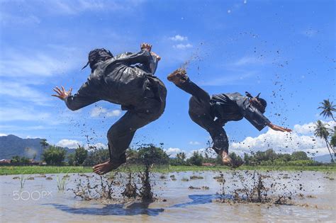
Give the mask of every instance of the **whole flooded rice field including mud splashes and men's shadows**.
[[(137, 173), (0, 176), (1, 222), (332, 222), (335, 175), (152, 173), (152, 191), (144, 190)], [(144, 193), (153, 199), (143, 199)]]

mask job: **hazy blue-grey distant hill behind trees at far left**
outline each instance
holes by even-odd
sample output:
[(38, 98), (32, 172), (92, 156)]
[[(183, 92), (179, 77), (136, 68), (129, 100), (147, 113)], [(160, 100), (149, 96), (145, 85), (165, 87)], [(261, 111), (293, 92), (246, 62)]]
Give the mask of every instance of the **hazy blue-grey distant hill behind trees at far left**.
[[(11, 159), (13, 156), (26, 156), (35, 160), (40, 160), (43, 147), (40, 145), (41, 139), (22, 139), (16, 135), (0, 137), (0, 159)], [(29, 149), (27, 149), (29, 148)], [(73, 153), (74, 149), (64, 148), (67, 153)]]

